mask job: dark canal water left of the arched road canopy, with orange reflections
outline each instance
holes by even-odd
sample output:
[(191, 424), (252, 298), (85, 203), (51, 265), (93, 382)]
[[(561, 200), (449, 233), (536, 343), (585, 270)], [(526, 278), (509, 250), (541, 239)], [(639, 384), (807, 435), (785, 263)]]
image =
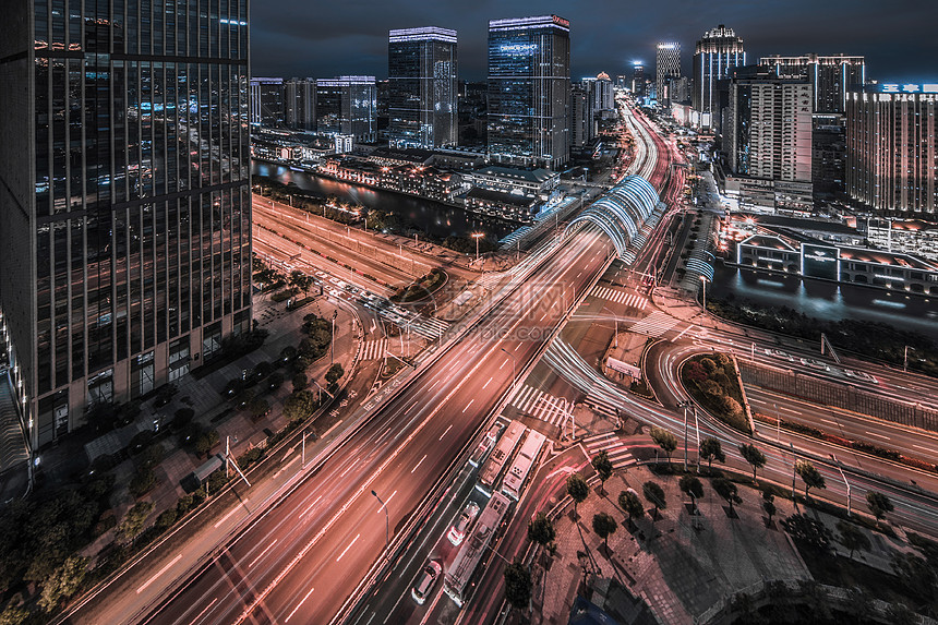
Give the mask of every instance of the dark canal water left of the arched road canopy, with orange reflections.
[(472, 232), (486, 232), (489, 239), (502, 239), (521, 227), (520, 224), (473, 215), (462, 208), (447, 206), (431, 200), (348, 184), (304, 171), (294, 171), (289, 167), (272, 163), (253, 161), (251, 173), (253, 176), (266, 176), (284, 184), (292, 182), (300, 189), (322, 197), (336, 195), (339, 200), (361, 204), (368, 208), (394, 213), (405, 223), (411, 223), (440, 239), (450, 236), (468, 237)]

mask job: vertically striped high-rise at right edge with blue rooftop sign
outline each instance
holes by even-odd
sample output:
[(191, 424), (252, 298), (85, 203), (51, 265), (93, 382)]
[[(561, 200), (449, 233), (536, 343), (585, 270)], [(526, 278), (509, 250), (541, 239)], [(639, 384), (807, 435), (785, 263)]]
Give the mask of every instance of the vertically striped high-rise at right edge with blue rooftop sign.
[(846, 98), (846, 190), (883, 212), (938, 213), (938, 84), (877, 84)]

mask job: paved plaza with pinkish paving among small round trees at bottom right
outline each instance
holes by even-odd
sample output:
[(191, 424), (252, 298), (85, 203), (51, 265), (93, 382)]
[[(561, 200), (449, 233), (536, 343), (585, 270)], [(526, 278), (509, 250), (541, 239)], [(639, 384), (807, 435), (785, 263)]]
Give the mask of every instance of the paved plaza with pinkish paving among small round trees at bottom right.
[[(635, 489), (642, 503), (641, 484), (652, 480), (665, 492), (668, 508), (658, 520), (646, 515), (630, 533), (622, 525), (625, 515), (616, 505), (618, 493)], [(604, 591), (621, 585), (641, 599), (660, 623), (690, 624), (720, 599), (731, 597), (759, 580), (810, 579), (797, 551), (775, 521), (767, 528), (761, 495), (741, 488), (738, 518), (730, 518), (725, 501), (701, 478), (705, 495), (698, 502), (700, 529), (690, 527), (692, 517), (683, 505), (686, 500), (677, 477), (657, 477), (646, 467), (627, 474), (615, 474), (605, 483), (605, 495), (592, 489), (579, 505), (579, 520), (572, 520), (572, 508), (555, 519), (557, 555), (549, 569), (534, 566), (532, 621), (565, 623), (576, 600), (581, 580), (594, 589), (592, 600), (615, 618), (626, 622), (640, 605), (623, 592)], [(775, 500), (775, 519), (793, 514), (793, 504)], [(620, 526), (609, 539), (610, 553), (592, 531), (592, 517), (599, 512), (613, 516)], [(536, 563), (538, 558), (536, 558)], [(582, 592), (582, 591), (580, 591)]]

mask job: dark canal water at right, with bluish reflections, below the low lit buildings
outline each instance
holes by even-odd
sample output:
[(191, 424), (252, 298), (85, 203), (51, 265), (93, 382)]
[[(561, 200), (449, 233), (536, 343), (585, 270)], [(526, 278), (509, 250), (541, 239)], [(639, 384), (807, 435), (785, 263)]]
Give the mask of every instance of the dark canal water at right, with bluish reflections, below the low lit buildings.
[[(711, 291), (712, 289), (712, 291)], [(917, 332), (938, 342), (938, 298), (906, 295), (870, 287), (802, 280), (758, 269), (717, 263), (711, 292), (765, 307), (789, 307), (808, 316), (840, 321), (852, 318), (885, 323)]]

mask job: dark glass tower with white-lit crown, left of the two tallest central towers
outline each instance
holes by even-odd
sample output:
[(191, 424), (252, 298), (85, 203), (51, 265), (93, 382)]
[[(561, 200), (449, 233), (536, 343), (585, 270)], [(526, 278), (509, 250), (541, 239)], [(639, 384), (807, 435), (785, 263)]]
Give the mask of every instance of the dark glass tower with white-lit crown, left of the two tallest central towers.
[(458, 143), (456, 31), (390, 31), (387, 47), (388, 142), (397, 147)]

